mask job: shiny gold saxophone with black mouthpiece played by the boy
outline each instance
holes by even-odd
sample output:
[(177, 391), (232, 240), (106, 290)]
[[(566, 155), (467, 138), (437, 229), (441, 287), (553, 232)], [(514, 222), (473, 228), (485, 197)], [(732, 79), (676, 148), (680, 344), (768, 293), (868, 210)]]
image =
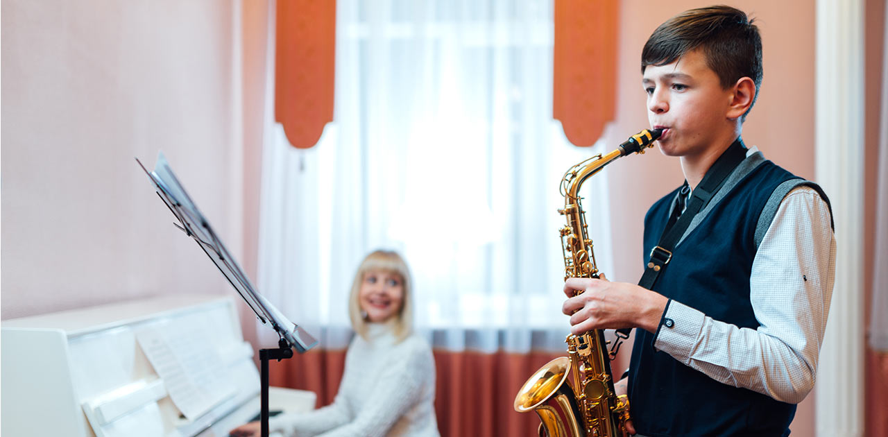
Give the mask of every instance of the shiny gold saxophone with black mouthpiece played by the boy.
[[(567, 226), (560, 229), (565, 280), (599, 277), (580, 204), (583, 181), (621, 156), (645, 153), (661, 134), (659, 129), (640, 131), (607, 155), (595, 155), (571, 167), (561, 179), (565, 206), (559, 213), (567, 218)], [(567, 357), (548, 362), (527, 379), (515, 397), (515, 410), (536, 411), (542, 422), (538, 430), (541, 437), (626, 435), (629, 401), (623, 396), (618, 399), (614, 393), (604, 330), (569, 335), (566, 341)], [(572, 376), (573, 388), (565, 384), (568, 375)]]

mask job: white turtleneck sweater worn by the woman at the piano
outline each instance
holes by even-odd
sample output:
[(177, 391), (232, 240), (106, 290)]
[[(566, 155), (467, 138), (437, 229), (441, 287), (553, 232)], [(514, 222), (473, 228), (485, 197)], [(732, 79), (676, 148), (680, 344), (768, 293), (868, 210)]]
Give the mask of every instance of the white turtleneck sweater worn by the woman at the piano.
[(368, 340), (355, 336), (332, 404), (269, 419), (287, 437), (438, 437), (432, 348), (415, 333), (395, 343), (386, 325), (369, 324)]

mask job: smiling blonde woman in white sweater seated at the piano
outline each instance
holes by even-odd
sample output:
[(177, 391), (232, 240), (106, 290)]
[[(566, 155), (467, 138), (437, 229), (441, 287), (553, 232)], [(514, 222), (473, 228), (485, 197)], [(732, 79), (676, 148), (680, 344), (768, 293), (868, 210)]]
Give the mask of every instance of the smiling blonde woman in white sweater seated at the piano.
[[(410, 272), (398, 253), (377, 250), (354, 275), (349, 315), (356, 335), (332, 404), (269, 419), (269, 430), (297, 436), (438, 437), (435, 364), (428, 343), (413, 332)], [(259, 435), (258, 422), (232, 430)]]

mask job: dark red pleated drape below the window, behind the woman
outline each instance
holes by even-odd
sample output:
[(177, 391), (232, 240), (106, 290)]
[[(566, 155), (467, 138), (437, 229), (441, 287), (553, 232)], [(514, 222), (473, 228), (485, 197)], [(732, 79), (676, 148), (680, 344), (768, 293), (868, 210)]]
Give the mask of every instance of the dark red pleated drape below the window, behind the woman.
[[(435, 410), (442, 437), (535, 437), (539, 417), (512, 408), (515, 394), (536, 369), (563, 354), (480, 354), (434, 351)], [(345, 351), (313, 350), (269, 363), (269, 384), (318, 393), (318, 407), (336, 397)]]

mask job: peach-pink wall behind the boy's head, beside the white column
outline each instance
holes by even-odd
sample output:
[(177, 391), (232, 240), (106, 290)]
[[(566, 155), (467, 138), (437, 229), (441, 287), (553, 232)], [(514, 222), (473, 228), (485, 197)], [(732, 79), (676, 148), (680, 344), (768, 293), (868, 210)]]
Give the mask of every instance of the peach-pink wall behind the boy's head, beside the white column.
[[(744, 125), (743, 139), (766, 158), (805, 178), (814, 177), (814, 2), (750, 0), (726, 2), (757, 19), (764, 45), (765, 78), (756, 106)], [(713, 4), (682, 0), (625, 0), (620, 15), (617, 112), (605, 141), (616, 146), (647, 127), (641, 87), (641, 49), (654, 28), (678, 12)], [(641, 231), (647, 208), (678, 187), (684, 177), (678, 161), (648, 152), (608, 167), (611, 195), (614, 278), (636, 282), (643, 271)], [(814, 396), (798, 408), (793, 435), (813, 435)]]

